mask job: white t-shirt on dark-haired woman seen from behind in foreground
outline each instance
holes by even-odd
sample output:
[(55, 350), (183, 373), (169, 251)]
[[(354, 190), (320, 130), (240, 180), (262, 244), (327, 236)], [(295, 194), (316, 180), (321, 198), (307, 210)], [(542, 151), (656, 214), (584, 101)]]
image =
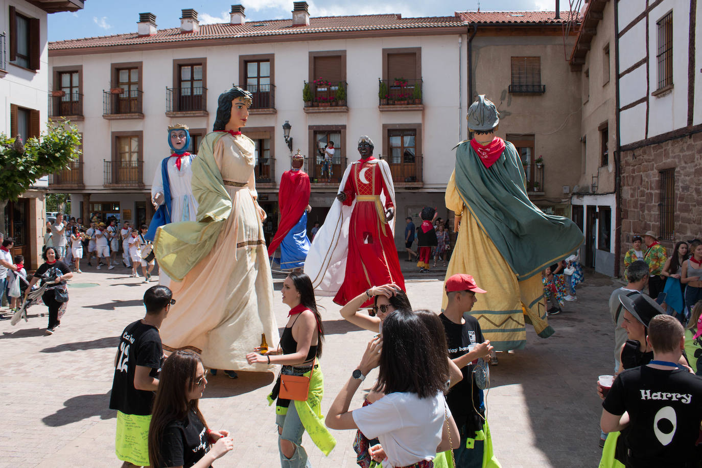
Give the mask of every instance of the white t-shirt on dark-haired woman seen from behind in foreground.
[(364, 436), (380, 441), (388, 456), (383, 467), (407, 467), (434, 460), (446, 424), (444, 415), (451, 416), (451, 410), (442, 393), (420, 399), (417, 394), (395, 392), (351, 414)]

